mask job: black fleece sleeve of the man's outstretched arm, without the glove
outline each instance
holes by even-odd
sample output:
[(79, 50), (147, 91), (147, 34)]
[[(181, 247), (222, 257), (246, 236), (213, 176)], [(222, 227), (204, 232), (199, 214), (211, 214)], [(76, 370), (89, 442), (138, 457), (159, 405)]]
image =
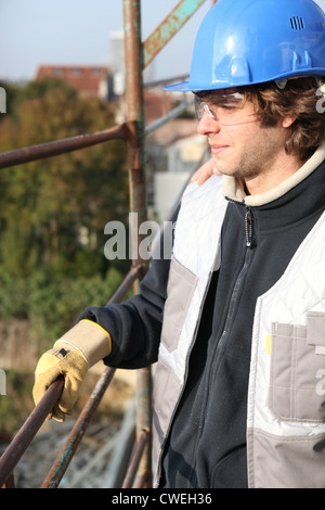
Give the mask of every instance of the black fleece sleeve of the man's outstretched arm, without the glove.
[[(178, 209), (172, 225), (177, 214)], [(78, 320), (92, 320), (109, 333), (112, 353), (104, 359), (105, 365), (135, 369), (157, 360), (172, 242), (169, 244), (170, 251), (167, 251), (160, 238), (159, 255), (152, 259), (139, 295), (121, 304), (86, 308), (79, 316)]]

